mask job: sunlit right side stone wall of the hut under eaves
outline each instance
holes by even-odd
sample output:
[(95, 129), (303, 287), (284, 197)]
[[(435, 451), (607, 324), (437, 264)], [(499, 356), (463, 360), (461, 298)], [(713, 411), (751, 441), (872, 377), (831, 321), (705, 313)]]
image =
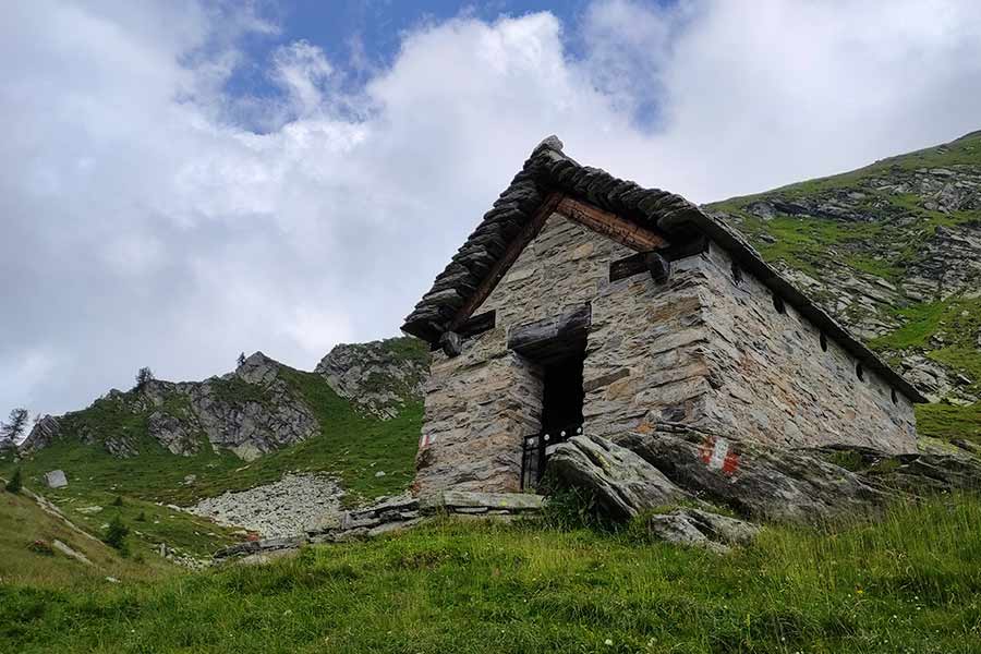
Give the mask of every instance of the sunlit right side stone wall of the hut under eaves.
[[(727, 253), (701, 258), (707, 360), (716, 391), (700, 424), (775, 446), (863, 445), (916, 451), (912, 403), (791, 306), (784, 313), (760, 281), (734, 280)], [(893, 398), (895, 397), (895, 402)]]

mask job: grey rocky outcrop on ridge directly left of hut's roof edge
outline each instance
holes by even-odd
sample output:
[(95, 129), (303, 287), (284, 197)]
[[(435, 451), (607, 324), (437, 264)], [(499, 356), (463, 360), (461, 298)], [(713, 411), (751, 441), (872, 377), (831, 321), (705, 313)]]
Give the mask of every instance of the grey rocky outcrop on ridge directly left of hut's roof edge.
[(340, 397), (388, 420), (419, 401), (429, 373), (428, 348), (413, 337), (334, 348), (315, 371)]

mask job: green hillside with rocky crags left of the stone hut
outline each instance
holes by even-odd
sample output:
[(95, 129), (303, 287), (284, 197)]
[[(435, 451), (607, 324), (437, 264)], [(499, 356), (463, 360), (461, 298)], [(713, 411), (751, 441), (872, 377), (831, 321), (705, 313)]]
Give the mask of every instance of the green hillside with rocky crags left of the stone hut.
[[(228, 375), (152, 380), (112, 390), (87, 409), (47, 416), (23, 444), (21, 460), (12, 451), (0, 453), (0, 475), (20, 467), (31, 488), (44, 489), (94, 532), (105, 522), (101, 509), (123, 497), (128, 519), (141, 512), (161, 518), (149, 520), (137, 540), (148, 549), (166, 543), (190, 557), (207, 557), (244, 533), (169, 505), (193, 506), (279, 482), (287, 473), (336, 480), (343, 504), (399, 493), (412, 480), (422, 420), (419, 395), (407, 391), (417, 378), (407, 379), (419, 374), (427, 350), (409, 338), (360, 347), (384, 354), (385, 365), (349, 374), (341, 391), (360, 399), (368, 386), (384, 395), (382, 416), (374, 405), (339, 395), (326, 374), (257, 352)], [(44, 488), (43, 476), (51, 470), (65, 472), (66, 487)]]

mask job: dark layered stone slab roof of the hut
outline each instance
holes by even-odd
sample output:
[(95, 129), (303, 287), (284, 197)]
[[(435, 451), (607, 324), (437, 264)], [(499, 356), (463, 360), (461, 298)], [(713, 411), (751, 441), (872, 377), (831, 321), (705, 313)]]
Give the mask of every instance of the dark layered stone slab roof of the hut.
[(460, 307), (504, 255), (508, 243), (556, 192), (659, 234), (703, 233), (864, 367), (880, 374), (912, 401), (927, 401), (909, 382), (764, 262), (739, 232), (680, 195), (644, 189), (598, 168), (578, 164), (562, 153), (562, 143), (556, 136), (549, 136), (535, 147), (510, 185), (436, 277), (429, 292), (405, 318), (402, 331), (431, 343), (438, 342)]

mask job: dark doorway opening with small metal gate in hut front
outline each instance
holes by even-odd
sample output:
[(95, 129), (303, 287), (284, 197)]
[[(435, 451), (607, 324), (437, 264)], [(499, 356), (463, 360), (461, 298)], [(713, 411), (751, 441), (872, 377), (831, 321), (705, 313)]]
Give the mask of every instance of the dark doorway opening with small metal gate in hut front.
[(521, 487), (533, 488), (545, 474), (548, 457), (559, 443), (582, 433), (582, 366), (585, 343), (542, 362), (542, 431), (524, 439)]

